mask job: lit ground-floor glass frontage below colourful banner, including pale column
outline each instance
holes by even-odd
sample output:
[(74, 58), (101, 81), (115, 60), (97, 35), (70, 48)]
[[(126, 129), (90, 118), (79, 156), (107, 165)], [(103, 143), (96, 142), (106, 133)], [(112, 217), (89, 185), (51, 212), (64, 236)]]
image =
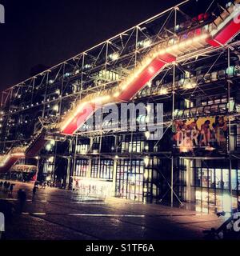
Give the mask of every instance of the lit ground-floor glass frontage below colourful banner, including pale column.
[[(237, 162), (232, 162), (230, 170), (230, 162), (223, 160), (218, 160), (215, 164), (214, 161), (188, 160), (186, 165), (180, 167), (180, 187), (185, 191), (182, 199), (189, 199), (186, 198), (186, 191), (190, 190), (190, 201), (195, 202), (197, 210), (206, 213), (221, 211), (229, 204), (237, 208), (240, 200), (240, 170), (236, 168)], [(192, 177), (190, 180), (186, 178), (187, 172)]]

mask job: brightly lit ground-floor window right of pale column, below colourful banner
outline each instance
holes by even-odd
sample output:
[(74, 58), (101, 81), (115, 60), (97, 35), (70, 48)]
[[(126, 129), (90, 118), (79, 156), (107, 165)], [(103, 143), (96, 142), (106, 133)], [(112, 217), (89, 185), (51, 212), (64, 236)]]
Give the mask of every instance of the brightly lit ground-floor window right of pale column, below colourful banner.
[[(215, 164), (201, 161), (193, 166), (195, 202), (198, 210), (209, 212), (210, 207), (218, 211), (237, 208), (239, 201), (240, 170), (234, 164), (230, 170), (229, 162)], [(194, 192), (195, 191), (195, 192)], [(232, 192), (232, 193), (231, 193)]]

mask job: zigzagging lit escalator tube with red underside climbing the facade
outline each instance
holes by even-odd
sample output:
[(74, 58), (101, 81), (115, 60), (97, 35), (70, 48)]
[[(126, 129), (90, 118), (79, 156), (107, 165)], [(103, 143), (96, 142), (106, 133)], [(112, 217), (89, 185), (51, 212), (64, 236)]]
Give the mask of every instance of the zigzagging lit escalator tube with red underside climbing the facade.
[[(194, 54), (205, 47), (221, 47), (230, 42), (240, 31), (240, 0), (224, 10), (220, 17), (205, 26), (174, 40), (167, 40), (154, 46), (142, 62), (130, 70), (118, 86), (89, 94), (74, 104), (74, 107), (56, 127), (63, 135), (73, 135), (96, 110), (106, 103), (129, 102), (167, 65), (174, 64), (186, 54)], [(237, 21), (237, 22), (236, 22)], [(33, 158), (46, 143), (46, 129), (41, 128), (27, 146), (14, 146), (7, 154), (0, 156), (0, 172), (10, 170), (20, 158)]]

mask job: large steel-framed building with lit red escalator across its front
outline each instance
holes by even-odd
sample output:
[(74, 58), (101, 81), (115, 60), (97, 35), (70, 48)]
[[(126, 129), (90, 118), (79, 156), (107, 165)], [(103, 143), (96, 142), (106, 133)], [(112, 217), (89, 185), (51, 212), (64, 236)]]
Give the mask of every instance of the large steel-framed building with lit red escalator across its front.
[[(2, 176), (206, 212), (236, 207), (239, 3), (197, 14), (182, 2), (3, 91)], [(146, 114), (136, 130), (88, 125), (99, 102), (162, 103), (162, 138), (138, 129)]]

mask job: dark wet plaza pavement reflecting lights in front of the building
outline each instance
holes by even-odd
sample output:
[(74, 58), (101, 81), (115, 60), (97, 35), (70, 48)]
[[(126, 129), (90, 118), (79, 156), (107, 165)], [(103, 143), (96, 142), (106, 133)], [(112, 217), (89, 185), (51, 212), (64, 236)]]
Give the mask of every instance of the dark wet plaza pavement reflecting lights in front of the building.
[(17, 191), (22, 188), (27, 200), (23, 213), (15, 213), (6, 226), (7, 240), (199, 240), (203, 230), (224, 221), (214, 214), (120, 198), (98, 200), (55, 188), (39, 188), (32, 201), (34, 185), (14, 183), (14, 194), (0, 191), (0, 198), (16, 206)]

